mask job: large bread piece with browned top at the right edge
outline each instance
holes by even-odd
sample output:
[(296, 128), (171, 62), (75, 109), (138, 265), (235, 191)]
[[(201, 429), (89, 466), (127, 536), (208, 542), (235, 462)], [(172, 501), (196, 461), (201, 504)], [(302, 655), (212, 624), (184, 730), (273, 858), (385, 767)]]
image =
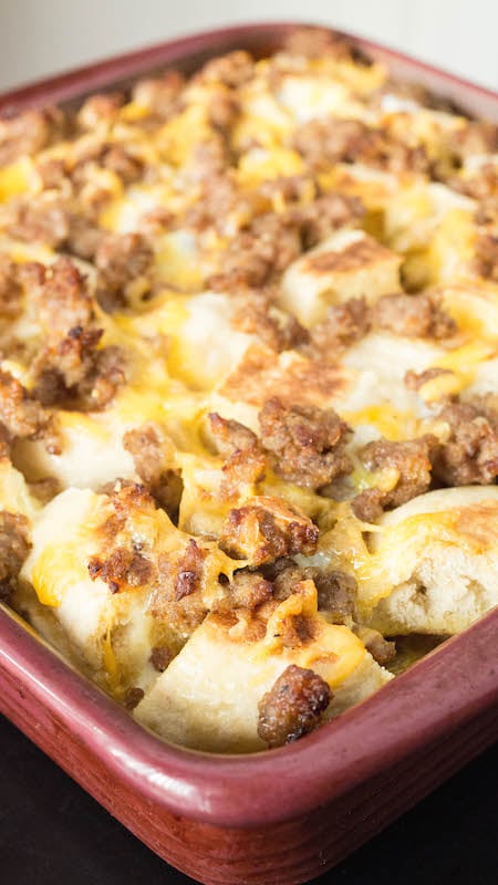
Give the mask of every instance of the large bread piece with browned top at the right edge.
[(369, 626), (454, 634), (498, 604), (498, 487), (427, 492), (380, 525), (359, 591)]

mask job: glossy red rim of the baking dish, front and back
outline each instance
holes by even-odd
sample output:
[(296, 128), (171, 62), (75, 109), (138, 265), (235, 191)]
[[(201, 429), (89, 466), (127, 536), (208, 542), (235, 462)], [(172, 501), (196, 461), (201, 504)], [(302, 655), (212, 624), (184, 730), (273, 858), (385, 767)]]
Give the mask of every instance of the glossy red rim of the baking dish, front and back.
[[(64, 102), (116, 81), (237, 45), (278, 44), (303, 22), (263, 22), (178, 38), (0, 95), (0, 108)], [(498, 93), (354, 34), (374, 58), (443, 83), (498, 118)], [(471, 108), (474, 110), (474, 108)], [(216, 756), (169, 745), (72, 669), (21, 618), (0, 612), (0, 684), (13, 679), (98, 756), (106, 770), (173, 814), (221, 826), (281, 822), (325, 804), (498, 705), (495, 610), (370, 698), (304, 740), (256, 754)], [(0, 707), (4, 704), (0, 693)], [(305, 777), (303, 777), (305, 775)], [(271, 780), (270, 780), (271, 779)], [(261, 791), (271, 782), (271, 791)]]

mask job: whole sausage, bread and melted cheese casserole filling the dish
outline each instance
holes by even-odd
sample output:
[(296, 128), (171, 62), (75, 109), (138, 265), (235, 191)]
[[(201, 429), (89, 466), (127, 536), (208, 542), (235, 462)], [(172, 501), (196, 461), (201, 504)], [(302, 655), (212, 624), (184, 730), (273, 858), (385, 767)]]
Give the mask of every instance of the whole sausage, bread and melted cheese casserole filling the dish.
[(298, 29), (0, 118), (0, 594), (282, 746), (498, 602), (498, 127)]

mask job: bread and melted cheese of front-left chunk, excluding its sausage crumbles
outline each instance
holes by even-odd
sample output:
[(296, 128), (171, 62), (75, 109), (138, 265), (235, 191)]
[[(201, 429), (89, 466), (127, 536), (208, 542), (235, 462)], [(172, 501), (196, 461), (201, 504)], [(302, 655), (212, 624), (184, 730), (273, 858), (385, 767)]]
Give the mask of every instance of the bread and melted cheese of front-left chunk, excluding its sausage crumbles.
[[(157, 677), (149, 663), (155, 645), (166, 645), (176, 653), (191, 632), (170, 623), (167, 605), (164, 616), (151, 613), (159, 558), (167, 559), (174, 569), (190, 535), (139, 493), (136, 499), (125, 498), (123, 506), (125, 522), (118, 521), (108, 535), (107, 520), (124, 513), (115, 510), (110, 496), (74, 488), (61, 492), (34, 522), (32, 550), (21, 571), (25, 587), (32, 587), (38, 597), (31, 594), (29, 601), (25, 594), (30, 616), (42, 635), (54, 641), (51, 625), (55, 621), (73, 655), (116, 696), (129, 686), (146, 687)], [(144, 573), (144, 583), (132, 581), (112, 592), (98, 573), (91, 577), (89, 563), (93, 558), (103, 563), (120, 549), (142, 551), (151, 570)], [(230, 560), (214, 542), (206, 542), (203, 549), (201, 594), (209, 608), (222, 593), (218, 574), (230, 576), (240, 562)]]

